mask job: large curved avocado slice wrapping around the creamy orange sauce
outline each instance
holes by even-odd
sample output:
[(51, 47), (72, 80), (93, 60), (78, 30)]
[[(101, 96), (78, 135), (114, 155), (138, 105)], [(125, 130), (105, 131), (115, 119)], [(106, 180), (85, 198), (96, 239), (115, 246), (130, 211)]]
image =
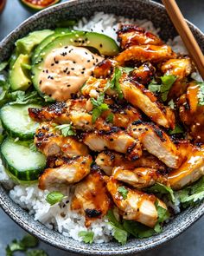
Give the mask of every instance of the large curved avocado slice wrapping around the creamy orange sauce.
[[(32, 65), (32, 81), (38, 93), (45, 97), (39, 88), (39, 76), (44, 68), (44, 58), (48, 56), (54, 49), (59, 49), (69, 45), (80, 47), (92, 47), (99, 50), (99, 54), (103, 56), (115, 56), (118, 54), (118, 44), (109, 36), (95, 32), (73, 31), (64, 36), (56, 37), (56, 39), (48, 43), (46, 47), (41, 50), (39, 57), (41, 61)], [(46, 95), (48, 97), (48, 95)]]

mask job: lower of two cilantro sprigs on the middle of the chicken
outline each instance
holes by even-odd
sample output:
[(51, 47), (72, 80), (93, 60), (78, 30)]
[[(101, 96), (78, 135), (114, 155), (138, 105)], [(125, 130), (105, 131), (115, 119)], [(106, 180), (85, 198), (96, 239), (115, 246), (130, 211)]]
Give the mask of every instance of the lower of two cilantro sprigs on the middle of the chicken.
[(97, 99), (91, 98), (91, 102), (92, 102), (92, 123), (95, 123), (97, 121), (97, 119), (99, 118), (100, 115), (102, 115), (102, 113), (105, 110), (108, 110), (109, 107), (106, 103), (104, 103), (104, 98), (105, 95), (104, 94), (100, 94), (98, 96)]

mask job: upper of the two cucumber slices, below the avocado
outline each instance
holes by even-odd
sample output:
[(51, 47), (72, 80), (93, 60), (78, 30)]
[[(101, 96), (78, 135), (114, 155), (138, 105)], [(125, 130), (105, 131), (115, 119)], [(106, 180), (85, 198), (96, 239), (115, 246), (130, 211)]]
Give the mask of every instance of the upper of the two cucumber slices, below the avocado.
[(29, 117), (28, 108), (41, 108), (39, 105), (5, 105), (1, 108), (0, 117), (3, 128), (13, 137), (21, 140), (32, 139), (39, 123)]

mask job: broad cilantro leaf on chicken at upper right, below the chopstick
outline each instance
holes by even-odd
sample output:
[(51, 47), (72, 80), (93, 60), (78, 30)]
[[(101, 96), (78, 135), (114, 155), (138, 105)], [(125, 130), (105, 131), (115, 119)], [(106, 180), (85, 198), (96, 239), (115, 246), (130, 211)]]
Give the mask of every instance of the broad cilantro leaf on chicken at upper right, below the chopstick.
[(155, 79), (153, 79), (148, 89), (150, 89), (151, 92), (158, 92), (161, 95), (161, 99), (163, 102), (166, 102), (167, 96), (169, 94), (169, 89), (171, 89), (173, 83), (177, 79), (175, 75), (163, 75), (160, 77), (161, 84), (158, 84)]

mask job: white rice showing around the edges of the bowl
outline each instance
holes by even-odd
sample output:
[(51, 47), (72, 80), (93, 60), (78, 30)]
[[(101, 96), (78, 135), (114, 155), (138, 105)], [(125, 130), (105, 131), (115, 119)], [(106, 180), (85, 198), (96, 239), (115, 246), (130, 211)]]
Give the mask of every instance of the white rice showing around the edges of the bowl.
[[(88, 21), (86, 18), (82, 18), (77, 25), (74, 26), (74, 30), (86, 30), (104, 33), (107, 36), (111, 36), (116, 40), (116, 30), (120, 23), (137, 23), (139, 26), (146, 30), (151, 31), (154, 34), (159, 32), (155, 29), (153, 23), (147, 20), (127, 19), (123, 16), (108, 15), (103, 12), (95, 13), (94, 16)], [(175, 39), (169, 40), (169, 45), (175, 50), (187, 54), (187, 50), (183, 46), (180, 36), (176, 36)], [(198, 73), (192, 75), (194, 79), (201, 81), (201, 76)], [(67, 195), (61, 203), (54, 206), (50, 206), (46, 201), (46, 196), (49, 193), (48, 190), (41, 191), (37, 185), (26, 187), (24, 185), (14, 186), (10, 180), (8, 174), (0, 162), (0, 182), (4, 187), (10, 189), (10, 198), (14, 200), (22, 208), (28, 209), (30, 214), (34, 215), (35, 220), (40, 221), (48, 228), (54, 228), (58, 232), (67, 237), (72, 237), (74, 240), (81, 240), (78, 233), (82, 230), (86, 230), (85, 218), (78, 213), (70, 210), (70, 200), (72, 199), (71, 188), (67, 187), (66, 190), (61, 191)], [(54, 190), (51, 189), (51, 190)], [(58, 189), (59, 190), (59, 189)], [(69, 202), (67, 202), (69, 200)], [(176, 203), (175, 213), (180, 212), (179, 202)], [(107, 220), (97, 220), (92, 222), (89, 230), (94, 233), (94, 242), (103, 243), (112, 240), (112, 226), (107, 223)]]

